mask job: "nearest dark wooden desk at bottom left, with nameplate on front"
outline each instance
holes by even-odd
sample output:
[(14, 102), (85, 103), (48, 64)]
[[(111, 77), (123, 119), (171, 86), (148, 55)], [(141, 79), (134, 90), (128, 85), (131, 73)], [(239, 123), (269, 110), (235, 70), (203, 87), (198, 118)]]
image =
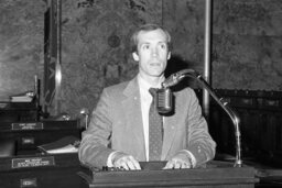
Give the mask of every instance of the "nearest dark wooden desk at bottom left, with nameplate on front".
[(1, 188), (83, 188), (77, 154), (0, 157)]

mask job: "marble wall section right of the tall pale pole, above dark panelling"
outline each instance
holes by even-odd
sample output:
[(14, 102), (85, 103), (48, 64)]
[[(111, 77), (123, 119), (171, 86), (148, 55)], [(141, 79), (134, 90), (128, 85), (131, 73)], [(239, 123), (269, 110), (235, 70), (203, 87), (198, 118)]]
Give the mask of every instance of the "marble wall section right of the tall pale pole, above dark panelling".
[(214, 3), (213, 86), (282, 90), (282, 1)]

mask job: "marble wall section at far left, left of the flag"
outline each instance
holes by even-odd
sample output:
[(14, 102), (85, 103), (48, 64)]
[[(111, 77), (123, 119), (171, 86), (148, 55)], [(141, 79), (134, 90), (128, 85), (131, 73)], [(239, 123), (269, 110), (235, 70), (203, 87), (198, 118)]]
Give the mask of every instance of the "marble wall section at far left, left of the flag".
[(0, 1), (0, 101), (34, 90), (43, 78), (45, 3), (39, 0)]

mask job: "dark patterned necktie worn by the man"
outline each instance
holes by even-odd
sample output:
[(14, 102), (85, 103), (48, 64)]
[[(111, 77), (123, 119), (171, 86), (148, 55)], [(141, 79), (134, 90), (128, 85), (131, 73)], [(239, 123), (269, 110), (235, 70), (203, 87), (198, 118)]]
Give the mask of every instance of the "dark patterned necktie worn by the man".
[(153, 101), (149, 111), (149, 161), (160, 161), (162, 153), (162, 117), (156, 110), (156, 89), (150, 88)]

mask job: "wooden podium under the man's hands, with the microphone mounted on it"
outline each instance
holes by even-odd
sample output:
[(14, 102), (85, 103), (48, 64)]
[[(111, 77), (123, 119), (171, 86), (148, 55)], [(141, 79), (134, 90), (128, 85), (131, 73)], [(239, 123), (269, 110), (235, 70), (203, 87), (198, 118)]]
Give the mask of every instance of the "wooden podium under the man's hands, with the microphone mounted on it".
[[(142, 166), (142, 165), (141, 165)], [(98, 187), (240, 187), (250, 188), (259, 181), (253, 167), (232, 167), (231, 163), (210, 162), (205, 168), (89, 170), (79, 172), (85, 184)]]

